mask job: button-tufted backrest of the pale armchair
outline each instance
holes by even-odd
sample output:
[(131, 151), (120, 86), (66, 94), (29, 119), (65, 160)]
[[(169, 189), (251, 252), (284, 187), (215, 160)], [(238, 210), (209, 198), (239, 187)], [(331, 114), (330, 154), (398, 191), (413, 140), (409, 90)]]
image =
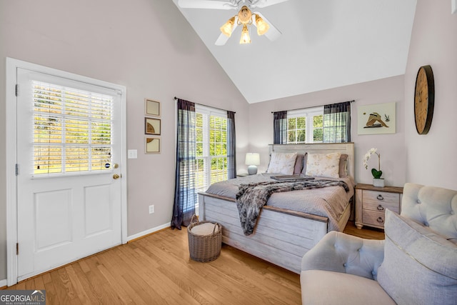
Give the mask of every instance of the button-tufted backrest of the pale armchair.
[(407, 183), (403, 187), (401, 215), (457, 244), (457, 191)]

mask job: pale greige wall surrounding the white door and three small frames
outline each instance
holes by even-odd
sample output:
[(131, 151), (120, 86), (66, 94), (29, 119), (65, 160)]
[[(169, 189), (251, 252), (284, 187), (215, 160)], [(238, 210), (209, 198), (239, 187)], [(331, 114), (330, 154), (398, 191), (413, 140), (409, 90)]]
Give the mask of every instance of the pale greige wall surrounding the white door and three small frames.
[[(174, 96), (236, 111), (243, 166), (248, 104), (172, 1), (0, 0), (0, 92), (6, 57), (126, 86), (127, 148), (138, 150), (126, 164), (129, 236), (171, 221)], [(145, 98), (161, 101), (161, 154), (144, 154)], [(0, 280), (6, 278), (4, 114), (1, 94)]]

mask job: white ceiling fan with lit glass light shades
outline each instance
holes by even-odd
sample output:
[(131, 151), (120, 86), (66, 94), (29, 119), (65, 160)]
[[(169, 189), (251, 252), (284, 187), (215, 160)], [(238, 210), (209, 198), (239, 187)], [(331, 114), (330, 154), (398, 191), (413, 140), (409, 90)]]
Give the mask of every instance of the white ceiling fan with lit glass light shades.
[(258, 35), (265, 35), (271, 41), (278, 39), (281, 36), (281, 32), (261, 13), (258, 11), (252, 12), (251, 9), (262, 9), (285, 1), (288, 0), (178, 0), (178, 5), (183, 9), (239, 9), (238, 14), (232, 16), (220, 28), (222, 33), (216, 40), (216, 46), (223, 46), (229, 40), (236, 26), (241, 25), (243, 29), (241, 30), (240, 44), (251, 43), (248, 26), (252, 24), (257, 27)]

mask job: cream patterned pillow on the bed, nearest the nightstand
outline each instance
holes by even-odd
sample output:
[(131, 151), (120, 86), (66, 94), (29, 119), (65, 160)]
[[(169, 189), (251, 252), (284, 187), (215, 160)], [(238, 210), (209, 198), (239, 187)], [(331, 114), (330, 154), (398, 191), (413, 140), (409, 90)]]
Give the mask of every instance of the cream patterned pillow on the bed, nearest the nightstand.
[(339, 178), (341, 153), (308, 154), (306, 160), (306, 176)]

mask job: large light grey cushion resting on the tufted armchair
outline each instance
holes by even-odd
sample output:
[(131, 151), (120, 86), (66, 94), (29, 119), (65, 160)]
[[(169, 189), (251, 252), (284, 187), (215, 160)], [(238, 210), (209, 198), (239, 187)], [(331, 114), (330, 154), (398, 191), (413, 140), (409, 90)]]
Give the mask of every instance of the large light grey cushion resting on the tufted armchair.
[(384, 230), (384, 260), (378, 269), (378, 283), (393, 301), (456, 304), (457, 245), (389, 209)]

